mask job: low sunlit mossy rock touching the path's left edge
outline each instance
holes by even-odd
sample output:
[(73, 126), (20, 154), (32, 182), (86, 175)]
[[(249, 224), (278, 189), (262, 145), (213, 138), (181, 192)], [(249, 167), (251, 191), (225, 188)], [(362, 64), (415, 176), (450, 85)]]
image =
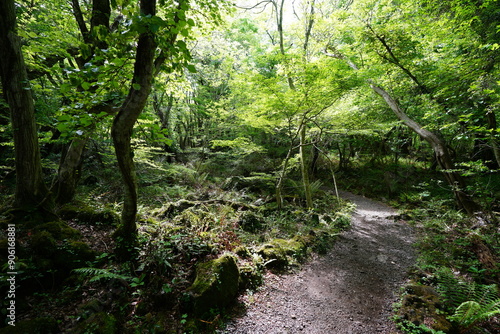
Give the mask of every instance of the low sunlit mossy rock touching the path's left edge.
[(302, 260), (307, 254), (307, 244), (300, 237), (273, 239), (262, 245), (257, 253), (274, 269), (284, 269), (290, 260)]

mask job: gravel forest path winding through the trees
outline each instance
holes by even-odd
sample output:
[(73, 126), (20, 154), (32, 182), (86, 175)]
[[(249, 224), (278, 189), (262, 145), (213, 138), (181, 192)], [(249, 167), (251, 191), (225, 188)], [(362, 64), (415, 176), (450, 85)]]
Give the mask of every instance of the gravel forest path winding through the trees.
[(340, 195), (357, 205), (352, 228), (298, 273), (266, 275), (261, 290), (243, 297), (245, 314), (219, 333), (399, 333), (389, 317), (415, 262), (412, 229), (383, 203)]

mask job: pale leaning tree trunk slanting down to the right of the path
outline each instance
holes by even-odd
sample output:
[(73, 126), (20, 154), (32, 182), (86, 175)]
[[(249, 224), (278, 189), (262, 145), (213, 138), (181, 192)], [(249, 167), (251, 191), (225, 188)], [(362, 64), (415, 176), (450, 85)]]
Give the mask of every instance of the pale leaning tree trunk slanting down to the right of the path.
[(424, 138), (434, 150), (436, 160), (443, 170), (448, 184), (451, 186), (457, 205), (468, 214), (473, 214), (480, 209), (472, 198), (465, 192), (465, 181), (462, 176), (456, 172), (455, 165), (451, 159), (450, 152), (445, 143), (433, 132), (423, 128), (420, 124), (413, 121), (399, 107), (399, 104), (383, 88), (371, 83), (370, 87), (389, 105), (394, 114), (410, 129)]

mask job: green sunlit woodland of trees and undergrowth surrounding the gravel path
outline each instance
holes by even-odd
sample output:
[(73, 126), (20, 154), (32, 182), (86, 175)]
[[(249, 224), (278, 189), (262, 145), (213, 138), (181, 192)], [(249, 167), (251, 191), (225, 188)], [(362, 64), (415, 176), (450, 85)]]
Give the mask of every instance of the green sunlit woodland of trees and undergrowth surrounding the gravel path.
[[(441, 290), (450, 332), (498, 328), (498, 1), (6, 0), (0, 13), (19, 321), (214, 330), (223, 307), (186, 292), (197, 263), (234, 253), (250, 277), (238, 291), (255, 288), (279, 262), (262, 245), (325, 251), (347, 227), (341, 187), (422, 230), (420, 283), (492, 291)], [(287, 251), (280, 270), (303, 257)], [(481, 312), (461, 320), (471, 301)]]

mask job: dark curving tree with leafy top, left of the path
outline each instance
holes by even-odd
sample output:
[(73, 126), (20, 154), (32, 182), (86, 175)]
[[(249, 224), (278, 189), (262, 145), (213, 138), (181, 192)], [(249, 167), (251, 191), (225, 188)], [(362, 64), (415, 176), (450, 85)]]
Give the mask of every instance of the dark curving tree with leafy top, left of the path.
[[(207, 20), (217, 23), (220, 20), (219, 12), (224, 8), (224, 3), (200, 1), (201, 11), (207, 10), (204, 15)], [(130, 145), (134, 125), (146, 106), (151, 92), (153, 78), (159, 73), (161, 66), (168, 59), (168, 69), (178, 70), (187, 66), (190, 53), (186, 42), (178, 39), (189, 36), (190, 29), (195, 25), (188, 13), (194, 11), (189, 0), (180, 0), (172, 3), (172, 7), (165, 19), (157, 16), (156, 0), (141, 0), (140, 15), (134, 29), (139, 32), (135, 54), (134, 73), (125, 101), (122, 103), (118, 114), (114, 118), (111, 136), (115, 147), (118, 166), (124, 183), (124, 201), (121, 225), (116, 231), (120, 238), (118, 251), (129, 253), (135, 244), (137, 236), (137, 178), (135, 173), (133, 150)], [(164, 28), (164, 34), (158, 31)], [(157, 48), (161, 52), (157, 54)]]

